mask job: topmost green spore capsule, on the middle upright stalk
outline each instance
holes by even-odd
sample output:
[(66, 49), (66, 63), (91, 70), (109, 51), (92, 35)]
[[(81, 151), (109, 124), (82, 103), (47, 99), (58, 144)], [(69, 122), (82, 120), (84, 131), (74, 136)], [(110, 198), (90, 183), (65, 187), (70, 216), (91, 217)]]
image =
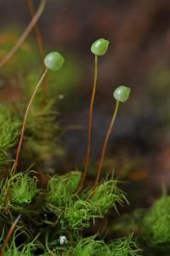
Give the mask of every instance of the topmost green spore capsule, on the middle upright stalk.
[(91, 46), (91, 52), (95, 55), (104, 55), (109, 47), (109, 41), (99, 38)]

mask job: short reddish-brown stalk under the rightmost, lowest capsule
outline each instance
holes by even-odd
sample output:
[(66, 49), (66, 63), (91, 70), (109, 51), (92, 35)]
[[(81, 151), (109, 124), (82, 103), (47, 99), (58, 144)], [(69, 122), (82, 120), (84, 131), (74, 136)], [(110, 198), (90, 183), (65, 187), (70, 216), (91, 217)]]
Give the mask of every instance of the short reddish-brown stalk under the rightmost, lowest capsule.
[(96, 179), (95, 179), (95, 182), (94, 182), (93, 190), (95, 190), (95, 188), (96, 188), (96, 186), (98, 185), (98, 182), (99, 182), (99, 177), (100, 177), (100, 174), (101, 174), (101, 169), (102, 169), (104, 158), (105, 158), (105, 151), (106, 151), (107, 144), (108, 144), (108, 141), (109, 141), (109, 138), (110, 138), (110, 135), (111, 135), (111, 130), (112, 130), (112, 128), (114, 126), (114, 123), (115, 123), (115, 120), (116, 120), (116, 115), (117, 115), (118, 109), (119, 109), (119, 101), (116, 100), (115, 111), (113, 113), (113, 117), (111, 119), (111, 124), (110, 124), (110, 127), (109, 127), (109, 129), (107, 131), (107, 134), (105, 136), (105, 142), (104, 142), (103, 147), (102, 147), (101, 156), (100, 156), (100, 159), (99, 159), (99, 168), (98, 168), (98, 171), (97, 171), (97, 175), (96, 175)]

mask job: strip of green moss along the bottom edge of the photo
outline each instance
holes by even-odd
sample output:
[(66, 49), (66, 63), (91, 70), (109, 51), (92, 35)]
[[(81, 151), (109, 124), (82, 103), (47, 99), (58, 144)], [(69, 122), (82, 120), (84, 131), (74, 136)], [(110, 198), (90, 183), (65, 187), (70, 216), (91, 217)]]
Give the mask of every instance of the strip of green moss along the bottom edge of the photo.
[[(31, 242), (25, 242), (20, 246), (16, 246), (16, 238), (20, 237), (20, 234), (16, 236), (16, 231), (12, 241), (8, 245), (5, 256), (31, 256), (38, 248), (37, 236)], [(55, 247), (54, 249), (44, 248), (44, 253), (39, 255), (65, 255), (65, 256), (141, 256), (141, 250), (137, 244), (133, 241), (132, 236), (128, 236), (122, 239), (115, 239), (109, 244), (106, 244), (103, 240), (97, 240), (96, 236), (89, 236), (86, 238), (79, 237), (78, 241), (74, 245), (67, 245), (64, 247)]]

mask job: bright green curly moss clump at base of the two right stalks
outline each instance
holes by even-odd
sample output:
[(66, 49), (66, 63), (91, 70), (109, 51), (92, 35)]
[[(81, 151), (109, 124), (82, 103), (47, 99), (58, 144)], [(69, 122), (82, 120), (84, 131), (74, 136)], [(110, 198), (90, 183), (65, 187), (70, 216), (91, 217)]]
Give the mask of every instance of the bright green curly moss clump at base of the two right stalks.
[(106, 180), (95, 191), (82, 191), (82, 198), (77, 197), (69, 208), (65, 208), (65, 219), (71, 228), (86, 228), (90, 226), (91, 220), (104, 218), (109, 209), (125, 201), (126, 197), (117, 188), (116, 180)]

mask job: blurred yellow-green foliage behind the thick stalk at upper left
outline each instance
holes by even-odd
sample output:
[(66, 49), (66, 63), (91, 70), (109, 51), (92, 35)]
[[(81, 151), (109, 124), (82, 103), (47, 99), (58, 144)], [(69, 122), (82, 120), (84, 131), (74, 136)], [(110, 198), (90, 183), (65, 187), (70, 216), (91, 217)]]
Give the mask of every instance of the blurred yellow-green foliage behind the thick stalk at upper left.
[[(22, 31), (23, 28), (20, 28), (19, 26), (4, 27), (1, 30), (0, 59), (3, 59), (5, 54), (8, 54), (11, 48), (14, 47), (14, 44), (20, 37)], [(36, 67), (39, 63), (40, 57), (37, 43), (34, 39), (29, 37), (26, 42), (22, 43), (13, 58), (8, 61), (8, 65), (3, 66), (0, 70), (0, 75), (8, 79), (10, 76), (16, 76), (18, 71), (26, 74), (27, 71)]]

